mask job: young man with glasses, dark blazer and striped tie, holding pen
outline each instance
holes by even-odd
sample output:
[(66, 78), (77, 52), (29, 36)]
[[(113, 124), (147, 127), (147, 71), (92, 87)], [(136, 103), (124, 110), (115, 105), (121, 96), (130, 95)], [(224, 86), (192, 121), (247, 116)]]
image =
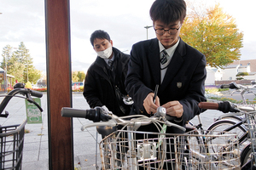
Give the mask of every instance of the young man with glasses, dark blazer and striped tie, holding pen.
[[(201, 113), (198, 103), (207, 100), (206, 57), (179, 37), (186, 16), (183, 0), (155, 0), (149, 14), (156, 38), (132, 46), (126, 91), (134, 100), (135, 114), (150, 116), (163, 106), (166, 114), (172, 116), (172, 122), (184, 127)], [(140, 130), (156, 131), (152, 126)], [(167, 127), (166, 133), (181, 131)]]

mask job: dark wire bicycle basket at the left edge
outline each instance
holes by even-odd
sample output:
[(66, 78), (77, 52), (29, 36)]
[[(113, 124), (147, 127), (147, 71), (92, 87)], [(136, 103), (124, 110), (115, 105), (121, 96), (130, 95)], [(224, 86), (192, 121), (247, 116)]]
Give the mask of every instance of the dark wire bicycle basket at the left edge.
[(0, 169), (21, 169), (25, 125), (0, 127)]

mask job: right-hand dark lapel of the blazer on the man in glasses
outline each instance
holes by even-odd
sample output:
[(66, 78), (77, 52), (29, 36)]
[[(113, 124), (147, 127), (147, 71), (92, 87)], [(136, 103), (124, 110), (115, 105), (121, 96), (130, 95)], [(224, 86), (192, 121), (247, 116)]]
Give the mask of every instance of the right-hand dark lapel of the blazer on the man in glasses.
[(182, 39), (172, 56), (172, 60), (167, 67), (166, 76), (164, 77), (163, 82), (161, 83), (159, 92), (162, 92), (169, 84), (172, 82), (172, 79), (177, 75), (179, 69), (183, 65), (183, 55), (185, 54), (185, 45)]

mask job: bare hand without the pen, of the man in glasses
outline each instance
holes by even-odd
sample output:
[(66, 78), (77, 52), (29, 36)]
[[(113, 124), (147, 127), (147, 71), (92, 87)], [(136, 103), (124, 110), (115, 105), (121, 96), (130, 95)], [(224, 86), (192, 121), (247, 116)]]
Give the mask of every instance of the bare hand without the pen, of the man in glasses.
[(180, 118), (183, 116), (183, 105), (181, 105), (178, 101), (170, 101), (162, 107), (166, 108), (166, 114), (170, 116), (176, 116)]

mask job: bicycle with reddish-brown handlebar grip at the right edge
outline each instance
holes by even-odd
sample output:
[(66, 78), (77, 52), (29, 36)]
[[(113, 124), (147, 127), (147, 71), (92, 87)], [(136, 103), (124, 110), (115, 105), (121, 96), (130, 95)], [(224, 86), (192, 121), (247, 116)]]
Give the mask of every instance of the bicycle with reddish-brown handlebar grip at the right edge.
[[(222, 127), (221, 131), (218, 134), (224, 134), (230, 132), (232, 129), (236, 127), (241, 129), (246, 129), (244, 133), (238, 136), (238, 144), (241, 145), (245, 141), (250, 141), (250, 144), (247, 144), (245, 147), (242, 147), (241, 151), (238, 151), (236, 154), (241, 154), (241, 169), (247, 169), (248, 166), (251, 168), (255, 166), (255, 114), (256, 114), (256, 106), (255, 105), (230, 105), (230, 102), (201, 102), (199, 106), (202, 109), (214, 109), (218, 111), (230, 111), (230, 112), (239, 112), (240, 114), (245, 115), (245, 118), (242, 119), (241, 122), (236, 122), (235, 124), (231, 124), (227, 128)], [(223, 126), (224, 122), (227, 120), (220, 120), (218, 122), (213, 122), (212, 126), (210, 126), (207, 130), (207, 133), (214, 133), (219, 126)], [(243, 124), (246, 124), (244, 126)], [(242, 127), (243, 126), (243, 127)], [(218, 150), (218, 149), (216, 149)], [(253, 153), (253, 155), (251, 155)], [(252, 158), (250, 158), (252, 156)], [(251, 160), (250, 160), (251, 159)], [(253, 163), (253, 165), (251, 165)]]

